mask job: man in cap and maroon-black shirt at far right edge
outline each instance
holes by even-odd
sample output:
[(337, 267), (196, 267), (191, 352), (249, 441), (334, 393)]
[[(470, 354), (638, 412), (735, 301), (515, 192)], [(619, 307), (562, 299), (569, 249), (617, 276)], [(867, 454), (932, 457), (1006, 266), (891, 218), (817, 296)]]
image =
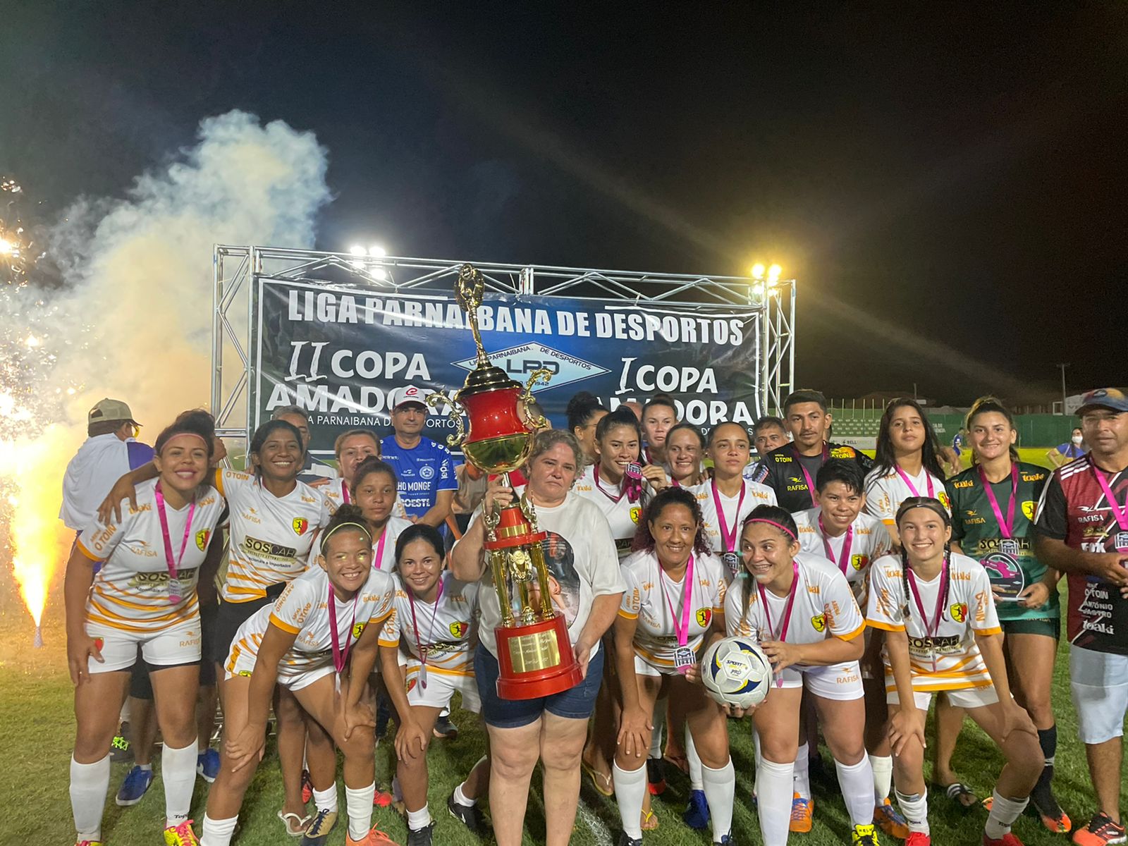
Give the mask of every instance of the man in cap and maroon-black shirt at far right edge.
[[(1042, 490), (1034, 552), (1069, 578), (1069, 689), (1098, 810), (1081, 846), (1125, 843), (1120, 781), (1128, 712), (1128, 396), (1085, 394), (1077, 409), (1091, 451)], [(1047, 761), (1050, 763), (1050, 761)]]

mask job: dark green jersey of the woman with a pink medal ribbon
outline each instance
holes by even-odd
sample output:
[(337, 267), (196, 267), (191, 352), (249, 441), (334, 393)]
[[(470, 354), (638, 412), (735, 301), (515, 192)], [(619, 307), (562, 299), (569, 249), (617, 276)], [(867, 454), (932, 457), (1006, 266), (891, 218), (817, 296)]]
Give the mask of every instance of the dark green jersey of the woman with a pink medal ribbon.
[[(1050, 472), (1021, 461), (1017, 469), (1019, 488), (1012, 538), (1003, 537), (1004, 532), (987, 497), (978, 467), (971, 467), (944, 483), (952, 500), (952, 540), (959, 543), (964, 555), (970, 555), (984, 565), (993, 585), (1008, 589), (1033, 584), (1046, 573), (1046, 565), (1034, 557), (1030, 527)], [(1010, 511), (1011, 486), (1011, 477), (992, 485), (1004, 520)], [(996, 601), (995, 606), (1002, 620), (1059, 616), (1056, 588), (1050, 590), (1050, 598), (1041, 608), (1022, 608), (1017, 602), (1011, 601)]]

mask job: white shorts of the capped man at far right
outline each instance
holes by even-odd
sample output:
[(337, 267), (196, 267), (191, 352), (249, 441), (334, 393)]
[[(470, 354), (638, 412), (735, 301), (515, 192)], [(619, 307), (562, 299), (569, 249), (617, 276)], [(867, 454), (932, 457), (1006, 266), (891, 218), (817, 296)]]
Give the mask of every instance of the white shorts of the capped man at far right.
[(1069, 691), (1082, 743), (1123, 737), (1128, 712), (1128, 655), (1069, 649)]

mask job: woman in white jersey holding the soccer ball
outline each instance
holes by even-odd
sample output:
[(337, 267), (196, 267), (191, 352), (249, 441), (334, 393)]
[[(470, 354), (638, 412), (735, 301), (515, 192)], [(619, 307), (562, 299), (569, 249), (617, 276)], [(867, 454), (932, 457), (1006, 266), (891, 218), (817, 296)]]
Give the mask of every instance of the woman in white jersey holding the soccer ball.
[(724, 602), (729, 634), (758, 638), (775, 670), (775, 688), (754, 713), (760, 741), (760, 835), (765, 846), (787, 843), (805, 687), (835, 757), (854, 827), (852, 843), (875, 846), (873, 772), (863, 740), (865, 705), (857, 664), (865, 647), (865, 620), (846, 576), (826, 558), (801, 552), (797, 535), (795, 521), (783, 509), (754, 509), (740, 537), (747, 573), (732, 582)]

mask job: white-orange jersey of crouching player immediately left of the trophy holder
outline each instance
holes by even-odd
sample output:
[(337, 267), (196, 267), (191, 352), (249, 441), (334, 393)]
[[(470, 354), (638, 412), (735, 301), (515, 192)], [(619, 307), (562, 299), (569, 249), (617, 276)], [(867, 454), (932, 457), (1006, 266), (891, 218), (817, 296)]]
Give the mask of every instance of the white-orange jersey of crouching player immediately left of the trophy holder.
[[(442, 574), (437, 602), (413, 600), (399, 575), (391, 616), (380, 629), (381, 646), (399, 646), (407, 653), (407, 666), (418, 666), (422, 646), (426, 647), (428, 672), (451, 676), (474, 675), (470, 636), (478, 614), (478, 582), (461, 582), (449, 572)], [(414, 616), (412, 610), (414, 608)]]

